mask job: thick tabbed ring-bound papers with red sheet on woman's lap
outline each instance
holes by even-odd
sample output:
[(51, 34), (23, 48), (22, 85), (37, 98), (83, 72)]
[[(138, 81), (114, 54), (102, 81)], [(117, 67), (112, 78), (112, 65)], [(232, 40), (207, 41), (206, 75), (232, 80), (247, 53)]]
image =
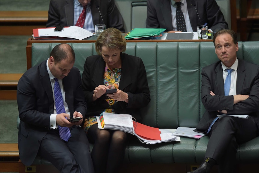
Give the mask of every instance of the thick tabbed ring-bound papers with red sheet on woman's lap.
[(116, 113), (101, 113), (96, 117), (98, 128), (120, 130), (133, 134), (146, 144), (160, 142), (180, 141), (180, 138), (172, 133), (162, 133), (158, 128), (150, 127), (132, 119), (131, 115)]

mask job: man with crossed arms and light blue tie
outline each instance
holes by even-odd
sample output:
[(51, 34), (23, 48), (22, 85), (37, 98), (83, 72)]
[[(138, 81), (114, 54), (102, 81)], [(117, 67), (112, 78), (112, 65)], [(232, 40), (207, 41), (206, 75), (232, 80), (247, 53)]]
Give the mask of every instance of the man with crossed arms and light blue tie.
[[(238, 42), (232, 30), (218, 31), (213, 42), (220, 61), (202, 69), (201, 99), (206, 112), (196, 127), (210, 138), (204, 162), (192, 173), (208, 173), (214, 164), (221, 173), (234, 172), (238, 144), (258, 136), (259, 66), (236, 57)], [(217, 119), (219, 114), (249, 117)]]

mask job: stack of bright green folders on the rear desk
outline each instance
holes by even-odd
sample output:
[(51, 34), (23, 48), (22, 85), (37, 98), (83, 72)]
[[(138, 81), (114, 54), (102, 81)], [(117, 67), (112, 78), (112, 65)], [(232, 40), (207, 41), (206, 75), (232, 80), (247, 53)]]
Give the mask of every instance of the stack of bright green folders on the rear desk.
[(165, 30), (163, 28), (134, 28), (125, 36), (125, 39), (156, 37)]

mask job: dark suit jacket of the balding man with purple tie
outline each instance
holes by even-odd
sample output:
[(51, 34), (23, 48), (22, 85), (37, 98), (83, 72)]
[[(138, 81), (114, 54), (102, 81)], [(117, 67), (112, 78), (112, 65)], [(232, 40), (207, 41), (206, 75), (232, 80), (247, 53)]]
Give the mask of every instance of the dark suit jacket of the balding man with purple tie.
[[(86, 102), (79, 70), (73, 67), (62, 81), (70, 118), (75, 111), (80, 112), (84, 117)], [(25, 165), (31, 165), (38, 153), (42, 138), (50, 128), (50, 114), (53, 114), (54, 110), (46, 61), (27, 70), (20, 78), (17, 85), (17, 103), (21, 120), (18, 133), (20, 159)]]

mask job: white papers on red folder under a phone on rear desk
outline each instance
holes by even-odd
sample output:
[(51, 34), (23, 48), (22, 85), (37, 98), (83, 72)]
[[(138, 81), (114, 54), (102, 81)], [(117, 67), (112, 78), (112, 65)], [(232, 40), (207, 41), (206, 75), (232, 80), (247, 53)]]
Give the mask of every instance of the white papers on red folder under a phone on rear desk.
[(92, 32), (89, 32), (79, 26), (69, 26), (64, 27), (64, 29), (60, 32), (54, 31), (55, 27), (51, 28), (38, 28), (33, 29), (33, 39), (40, 40), (40, 39), (53, 39), (53, 40), (60, 40), (60, 39), (78, 39), (82, 40), (87, 37), (93, 36)]

